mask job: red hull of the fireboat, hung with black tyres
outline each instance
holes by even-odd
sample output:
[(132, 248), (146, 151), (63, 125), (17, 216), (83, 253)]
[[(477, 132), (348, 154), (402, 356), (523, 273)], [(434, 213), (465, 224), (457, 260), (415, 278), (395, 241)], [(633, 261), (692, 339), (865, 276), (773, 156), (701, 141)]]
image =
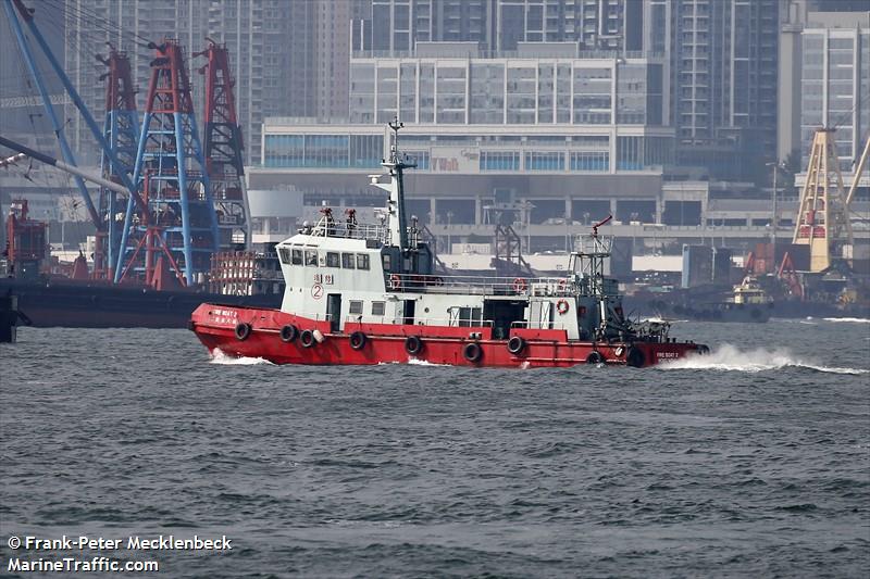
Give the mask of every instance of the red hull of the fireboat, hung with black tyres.
[[(239, 324), (250, 325), (250, 332), (244, 339), (237, 337)], [(293, 325), (299, 331), (320, 330), (323, 341), (314, 341), (308, 348), (300, 337), (285, 342), (281, 330), (286, 325)], [(508, 350), (507, 340), (492, 339), (492, 328), (488, 327), (348, 324), (345, 332), (333, 333), (328, 322), (315, 322), (277, 310), (213, 304), (202, 304), (194, 312), (190, 329), (209, 351), (220, 349), (228, 356), (261, 357), (275, 364), (361, 365), (421, 361), (451, 366), (567, 367), (586, 364), (589, 356), (595, 358), (594, 352), (598, 352), (607, 364), (651, 366), (705, 348), (687, 342), (595, 344), (569, 341), (564, 330), (514, 329), (511, 337), (523, 338), (525, 344), (521, 352), (513, 354)], [(364, 344), (359, 349), (351, 347), (350, 335), (355, 331), (365, 335)], [(472, 332), (480, 337), (470, 338)], [(415, 355), (406, 350), (406, 340), (410, 336), (419, 337), (423, 344)], [(476, 362), (465, 355), (469, 343), (480, 345)], [(641, 352), (642, 357), (633, 352)]]

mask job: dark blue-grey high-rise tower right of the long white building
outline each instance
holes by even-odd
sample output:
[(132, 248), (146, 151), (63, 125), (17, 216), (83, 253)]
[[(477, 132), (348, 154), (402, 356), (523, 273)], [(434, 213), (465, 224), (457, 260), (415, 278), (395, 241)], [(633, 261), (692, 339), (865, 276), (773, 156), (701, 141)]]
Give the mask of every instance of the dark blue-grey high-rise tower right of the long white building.
[[(720, 178), (757, 177), (776, 142), (779, 0), (670, 0), (647, 9), (670, 23), (678, 162)], [(660, 34), (654, 23), (647, 33)]]

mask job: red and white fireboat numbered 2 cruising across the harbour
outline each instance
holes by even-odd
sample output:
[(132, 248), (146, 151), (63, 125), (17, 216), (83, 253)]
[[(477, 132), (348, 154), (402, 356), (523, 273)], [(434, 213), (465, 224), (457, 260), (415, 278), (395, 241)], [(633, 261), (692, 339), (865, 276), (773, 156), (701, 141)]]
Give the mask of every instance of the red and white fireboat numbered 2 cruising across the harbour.
[(203, 303), (190, 329), (214, 353), (275, 364), (430, 363), (477, 367), (646, 367), (705, 354), (709, 348), (669, 336), (670, 325), (632, 322), (618, 281), (606, 276), (612, 239), (582, 236), (568, 275), (502, 278), (438, 275), (415, 218), (405, 211), (398, 119), (384, 175), (381, 224), (336, 221), (277, 246), (286, 289), (279, 310)]

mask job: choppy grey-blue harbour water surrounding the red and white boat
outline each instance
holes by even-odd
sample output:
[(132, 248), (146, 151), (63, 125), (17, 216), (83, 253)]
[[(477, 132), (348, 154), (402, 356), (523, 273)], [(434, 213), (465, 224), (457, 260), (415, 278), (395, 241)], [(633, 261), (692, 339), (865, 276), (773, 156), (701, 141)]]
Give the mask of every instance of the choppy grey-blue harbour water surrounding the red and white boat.
[(12, 534), (160, 532), (234, 545), (157, 553), (162, 577), (866, 576), (870, 324), (674, 331), (713, 354), (318, 368), (210, 361), (184, 330), (22, 329), (0, 344), (0, 576)]

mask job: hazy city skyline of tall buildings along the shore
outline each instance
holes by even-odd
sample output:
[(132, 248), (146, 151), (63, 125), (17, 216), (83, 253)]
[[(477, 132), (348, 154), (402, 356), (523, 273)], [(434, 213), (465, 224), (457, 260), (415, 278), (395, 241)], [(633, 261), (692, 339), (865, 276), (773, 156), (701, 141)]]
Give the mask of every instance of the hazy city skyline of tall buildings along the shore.
[[(128, 50), (140, 90), (153, 58), (145, 40), (173, 35), (187, 43), (198, 113), (201, 62), (194, 54), (206, 38), (225, 43), (254, 188), (301, 188), (312, 203), (356, 199), (359, 186), (351, 179), (311, 178), (323, 169), (376, 169), (383, 124), (398, 116), (417, 127), (407, 146), (419, 160), (421, 193), (445, 203), (424, 212), (433, 223), (450, 212), (465, 215), (457, 223), (481, 224), (480, 207), (511, 191), (512, 201), (537, 198), (539, 221), (582, 214), (576, 203), (601, 194), (620, 215), (709, 225), (736, 223), (732, 210), (716, 213), (720, 201), (711, 196), (731, 196), (744, 206), (749, 200), (739, 201), (743, 186), (713, 193), (708, 182), (763, 187), (774, 160), (790, 160), (799, 171), (816, 124), (843, 127), (836, 143), (842, 168), (849, 169), (870, 116), (861, 98), (870, 86), (870, 12), (818, 9), (857, 5), (55, 0), (38, 5), (37, 18), (40, 10), (64, 8), (62, 24), (51, 25), (63, 28), (62, 40), (53, 35), (53, 41), (65, 47), (65, 68), (98, 117), (102, 67), (92, 58), (96, 49), (108, 50), (105, 41)], [(94, 14), (102, 16), (88, 17)], [(840, 46), (847, 40), (848, 50)], [(9, 54), (7, 70), (13, 65)], [(65, 109), (73, 148), (96, 151), (77, 112)], [(50, 147), (49, 140), (40, 142)], [(445, 167), (477, 185), (448, 185)], [(495, 175), (502, 177), (494, 185)], [(501, 184), (504, 178), (515, 182)], [(692, 192), (673, 198), (666, 187), (673, 180), (691, 181)], [(540, 194), (542, 187), (551, 189), (550, 197)], [(761, 223), (757, 214), (746, 219)]]

